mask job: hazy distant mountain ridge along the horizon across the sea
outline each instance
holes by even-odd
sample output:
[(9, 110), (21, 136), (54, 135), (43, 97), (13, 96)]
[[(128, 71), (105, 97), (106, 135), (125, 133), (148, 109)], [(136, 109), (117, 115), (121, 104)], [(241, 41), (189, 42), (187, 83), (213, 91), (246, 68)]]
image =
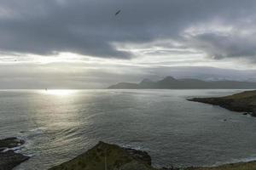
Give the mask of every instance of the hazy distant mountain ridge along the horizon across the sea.
[(143, 79), (139, 83), (119, 82), (109, 86), (108, 89), (236, 89), (236, 88), (256, 88), (256, 82), (238, 82), (238, 81), (202, 81), (199, 79), (176, 79), (174, 77), (165, 77), (164, 79), (153, 82), (149, 79)]

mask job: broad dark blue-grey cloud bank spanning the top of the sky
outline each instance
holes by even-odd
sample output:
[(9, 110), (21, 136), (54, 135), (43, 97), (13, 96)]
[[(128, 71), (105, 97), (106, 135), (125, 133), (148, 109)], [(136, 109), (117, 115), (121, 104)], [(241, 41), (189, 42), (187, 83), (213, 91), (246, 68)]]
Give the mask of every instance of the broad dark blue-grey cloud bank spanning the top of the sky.
[[(136, 54), (117, 49), (113, 42), (172, 39), (216, 58), (255, 56), (256, 38), (250, 31), (247, 36), (225, 37), (209, 30), (184, 40), (189, 27), (207, 26), (212, 20), (222, 20), (238, 32), (252, 26), (254, 0), (1, 0), (0, 4), (2, 52), (129, 59)], [(121, 14), (114, 16), (118, 9)]]

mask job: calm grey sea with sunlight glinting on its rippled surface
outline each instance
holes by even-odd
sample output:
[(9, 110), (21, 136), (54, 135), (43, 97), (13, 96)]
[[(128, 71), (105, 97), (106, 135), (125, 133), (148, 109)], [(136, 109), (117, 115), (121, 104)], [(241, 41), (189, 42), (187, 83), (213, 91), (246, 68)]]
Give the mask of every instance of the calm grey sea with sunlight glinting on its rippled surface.
[(247, 161), (256, 118), (186, 100), (240, 91), (2, 90), (0, 138), (26, 139), (32, 158), (15, 170), (47, 169), (99, 140), (146, 150), (156, 167)]

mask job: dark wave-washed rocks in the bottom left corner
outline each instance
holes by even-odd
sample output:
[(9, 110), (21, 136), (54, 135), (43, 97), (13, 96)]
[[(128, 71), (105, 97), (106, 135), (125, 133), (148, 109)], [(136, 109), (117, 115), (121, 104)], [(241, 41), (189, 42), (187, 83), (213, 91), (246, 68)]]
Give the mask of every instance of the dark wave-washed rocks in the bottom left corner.
[(29, 156), (15, 152), (22, 144), (25, 144), (22, 139), (0, 139), (0, 170), (10, 170), (29, 159)]

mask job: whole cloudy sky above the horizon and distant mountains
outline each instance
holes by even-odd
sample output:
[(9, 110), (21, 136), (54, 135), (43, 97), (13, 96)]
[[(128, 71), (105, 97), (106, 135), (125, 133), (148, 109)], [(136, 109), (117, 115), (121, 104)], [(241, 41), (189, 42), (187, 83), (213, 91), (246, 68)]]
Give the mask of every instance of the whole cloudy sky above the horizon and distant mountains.
[(256, 82), (255, 11), (255, 0), (0, 0), (0, 88)]

